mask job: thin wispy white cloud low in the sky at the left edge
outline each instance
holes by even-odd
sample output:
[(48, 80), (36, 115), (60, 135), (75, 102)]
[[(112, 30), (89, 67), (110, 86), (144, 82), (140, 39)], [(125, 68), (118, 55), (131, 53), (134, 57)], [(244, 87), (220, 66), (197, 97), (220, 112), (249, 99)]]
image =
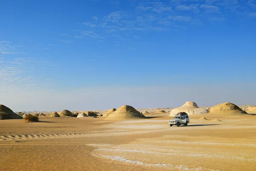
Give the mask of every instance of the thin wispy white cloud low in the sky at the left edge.
[(49, 65), (48, 61), (37, 58), (2, 58), (0, 93), (46, 88), (54, 82), (46, 81), (47, 76), (44, 75), (44, 70)]

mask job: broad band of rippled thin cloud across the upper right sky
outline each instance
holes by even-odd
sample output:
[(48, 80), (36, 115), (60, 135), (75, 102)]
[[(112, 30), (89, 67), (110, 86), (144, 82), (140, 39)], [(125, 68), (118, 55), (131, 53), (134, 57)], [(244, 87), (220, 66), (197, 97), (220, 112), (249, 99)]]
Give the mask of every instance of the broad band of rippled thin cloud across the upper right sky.
[[(169, 0), (169, 3), (167, 1), (163, 3), (160, 0), (127, 1), (131, 5), (131, 8), (128, 8), (130, 10), (113, 11), (101, 17), (92, 15), (90, 20), (80, 22), (86, 27), (77, 30), (77, 33), (71, 37), (85, 39), (112, 37), (125, 43), (128, 41), (127, 37), (134, 39), (133, 35), (142, 31), (176, 31), (187, 29), (188, 24), (199, 26), (207, 22), (225, 22), (230, 12), (236, 12), (236, 14), (240, 12), (250, 17), (255, 15), (248, 9), (242, 11), (238, 0)], [(249, 6), (253, 8), (254, 1), (247, 1), (249, 4), (247, 8)], [(122, 3), (123, 1), (109, 2)], [(106, 41), (108, 40), (104, 42)]]

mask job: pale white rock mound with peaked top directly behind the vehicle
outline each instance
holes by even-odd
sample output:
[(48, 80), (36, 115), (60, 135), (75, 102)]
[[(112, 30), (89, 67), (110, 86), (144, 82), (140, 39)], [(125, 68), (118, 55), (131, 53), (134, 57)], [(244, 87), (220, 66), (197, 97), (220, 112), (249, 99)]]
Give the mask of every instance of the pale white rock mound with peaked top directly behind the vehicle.
[(203, 108), (203, 107), (198, 107), (198, 105), (193, 101), (187, 101), (181, 107), (174, 108), (171, 111), (171, 114), (169, 116), (175, 116), (177, 113), (180, 113), (180, 112), (186, 112), (188, 115), (204, 114), (204, 113), (208, 113), (209, 109)]

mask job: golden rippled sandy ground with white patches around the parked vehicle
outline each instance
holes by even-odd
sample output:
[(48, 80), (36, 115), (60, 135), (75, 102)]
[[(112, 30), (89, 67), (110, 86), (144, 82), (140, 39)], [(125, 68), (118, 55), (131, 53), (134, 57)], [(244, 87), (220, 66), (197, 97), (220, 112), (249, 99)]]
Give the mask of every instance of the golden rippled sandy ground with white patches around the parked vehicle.
[(256, 170), (256, 116), (150, 117), (0, 120), (0, 171)]

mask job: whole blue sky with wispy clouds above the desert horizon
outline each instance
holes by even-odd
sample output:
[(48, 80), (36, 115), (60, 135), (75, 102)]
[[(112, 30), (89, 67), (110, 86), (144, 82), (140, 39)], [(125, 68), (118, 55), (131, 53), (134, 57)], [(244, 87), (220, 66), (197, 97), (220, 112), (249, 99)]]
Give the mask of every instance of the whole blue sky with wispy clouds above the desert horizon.
[(256, 0), (0, 0), (0, 21), (15, 111), (256, 101)]

